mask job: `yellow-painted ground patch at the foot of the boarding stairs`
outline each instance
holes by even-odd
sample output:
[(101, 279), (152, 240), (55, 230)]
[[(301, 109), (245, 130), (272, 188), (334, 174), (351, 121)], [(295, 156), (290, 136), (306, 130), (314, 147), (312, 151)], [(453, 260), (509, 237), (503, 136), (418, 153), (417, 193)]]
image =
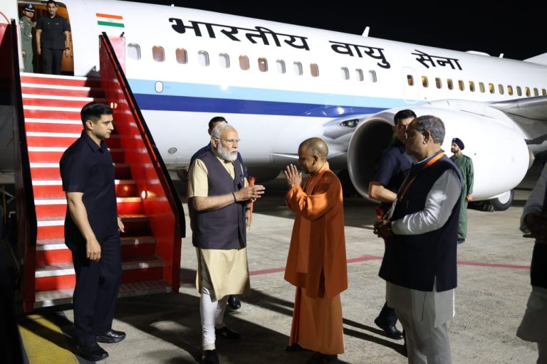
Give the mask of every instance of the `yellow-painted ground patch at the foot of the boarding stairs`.
[(19, 332), (28, 363), (78, 363), (61, 328), (43, 316), (26, 316), (19, 321)]

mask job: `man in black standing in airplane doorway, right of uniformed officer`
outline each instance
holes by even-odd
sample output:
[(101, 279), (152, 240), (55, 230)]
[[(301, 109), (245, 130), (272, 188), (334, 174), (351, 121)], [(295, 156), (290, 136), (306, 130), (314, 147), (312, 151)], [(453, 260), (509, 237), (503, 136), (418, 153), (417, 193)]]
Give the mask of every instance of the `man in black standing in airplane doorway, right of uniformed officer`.
[(42, 72), (61, 75), (63, 53), (70, 54), (71, 26), (65, 18), (57, 15), (57, 2), (48, 0), (47, 15), (36, 23), (36, 53), (42, 56)]

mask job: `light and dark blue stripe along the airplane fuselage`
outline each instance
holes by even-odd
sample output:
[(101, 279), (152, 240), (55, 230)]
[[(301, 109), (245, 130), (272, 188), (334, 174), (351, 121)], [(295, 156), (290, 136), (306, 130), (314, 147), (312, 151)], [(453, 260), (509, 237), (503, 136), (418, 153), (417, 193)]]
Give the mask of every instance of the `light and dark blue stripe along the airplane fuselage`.
[(220, 87), (184, 82), (162, 82), (162, 92), (155, 92), (155, 81), (129, 82), (142, 110), (343, 117), (350, 114), (374, 114), (383, 109), (400, 107), (404, 103), (402, 100), (377, 97)]

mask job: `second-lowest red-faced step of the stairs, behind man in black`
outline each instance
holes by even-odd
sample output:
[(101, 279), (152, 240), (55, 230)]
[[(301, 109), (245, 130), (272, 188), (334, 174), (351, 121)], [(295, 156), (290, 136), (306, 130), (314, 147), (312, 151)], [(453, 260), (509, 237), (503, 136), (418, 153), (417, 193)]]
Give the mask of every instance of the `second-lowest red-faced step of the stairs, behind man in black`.
[[(156, 240), (152, 236), (121, 237), (124, 259), (149, 257), (155, 254)], [(72, 262), (72, 252), (65, 240), (38, 240), (36, 242), (36, 265)]]

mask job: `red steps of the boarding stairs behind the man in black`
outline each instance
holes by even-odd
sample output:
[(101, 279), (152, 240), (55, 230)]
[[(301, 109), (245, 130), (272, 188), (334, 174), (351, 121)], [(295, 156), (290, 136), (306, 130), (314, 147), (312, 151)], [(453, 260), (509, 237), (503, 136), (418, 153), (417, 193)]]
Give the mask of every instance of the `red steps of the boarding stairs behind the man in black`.
[[(80, 137), (81, 107), (90, 101), (106, 100), (100, 80), (85, 77), (21, 73), (21, 90), (38, 225), (33, 307), (66, 304), (71, 302), (75, 274), (71, 252), (63, 240), (66, 198), (59, 159)], [(156, 255), (156, 238), (142, 212), (140, 193), (120, 147), (120, 135), (115, 133), (106, 142), (115, 164), (118, 214), (125, 224), (120, 296), (171, 291), (164, 279), (168, 275), (165, 262)]]

